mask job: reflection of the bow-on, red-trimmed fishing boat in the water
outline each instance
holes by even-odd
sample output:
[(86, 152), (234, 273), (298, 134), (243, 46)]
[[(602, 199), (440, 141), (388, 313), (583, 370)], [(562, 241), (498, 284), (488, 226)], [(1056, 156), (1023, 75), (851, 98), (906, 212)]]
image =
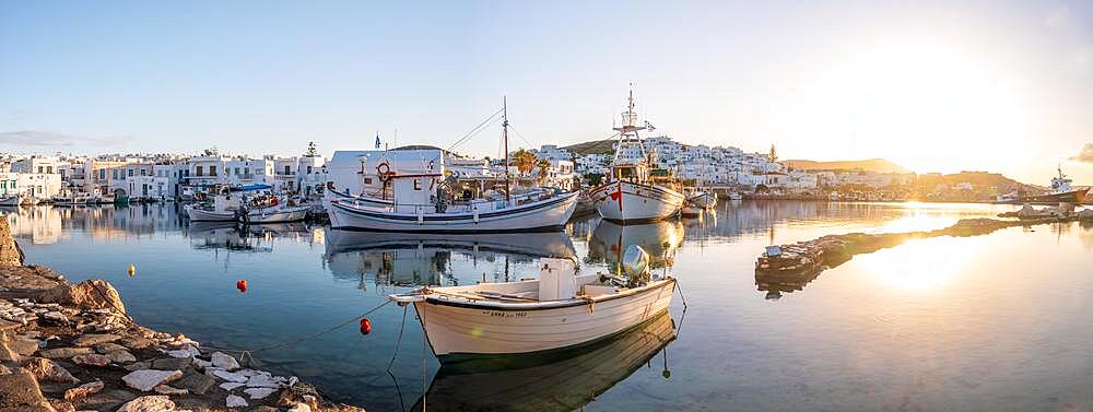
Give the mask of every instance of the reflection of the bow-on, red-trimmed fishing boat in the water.
[(683, 223), (660, 221), (639, 225), (621, 225), (601, 221), (588, 240), (589, 263), (607, 263), (614, 272), (622, 260), (622, 254), (630, 245), (640, 246), (649, 254), (651, 268), (671, 267), (675, 260), (675, 249), (683, 245)]

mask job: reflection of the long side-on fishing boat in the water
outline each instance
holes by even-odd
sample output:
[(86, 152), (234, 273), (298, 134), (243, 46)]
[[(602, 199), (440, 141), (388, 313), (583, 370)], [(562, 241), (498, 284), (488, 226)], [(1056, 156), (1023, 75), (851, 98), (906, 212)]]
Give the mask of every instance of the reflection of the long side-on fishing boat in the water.
[(576, 256), (573, 242), (562, 232), (445, 235), (330, 229), (326, 236), (325, 259), (336, 276), (373, 275), (384, 285), (439, 285), (445, 279), (458, 284), (449, 269), (454, 252), (491, 262), (504, 257), (506, 271), (508, 260)]

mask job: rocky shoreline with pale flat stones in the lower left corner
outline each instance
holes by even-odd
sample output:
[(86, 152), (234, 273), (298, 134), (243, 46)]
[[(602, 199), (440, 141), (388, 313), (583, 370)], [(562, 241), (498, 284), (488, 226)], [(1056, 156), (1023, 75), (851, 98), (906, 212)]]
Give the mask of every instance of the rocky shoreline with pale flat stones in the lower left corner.
[(108, 282), (23, 266), (0, 219), (0, 412), (363, 411), (137, 325)]

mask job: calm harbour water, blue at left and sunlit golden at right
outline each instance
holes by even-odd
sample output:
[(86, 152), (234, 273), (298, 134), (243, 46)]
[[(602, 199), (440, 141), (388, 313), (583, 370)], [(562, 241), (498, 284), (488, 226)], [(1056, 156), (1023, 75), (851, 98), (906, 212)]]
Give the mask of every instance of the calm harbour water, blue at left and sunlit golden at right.
[[(604, 270), (639, 244), (680, 280), (670, 318), (525, 370), (440, 368), (413, 309), (257, 355), (369, 411), (1093, 409), (1093, 227), (915, 240), (815, 279), (757, 282), (763, 246), (940, 228), (1008, 207), (742, 202), (701, 220), (564, 234), (376, 235), (188, 224), (173, 204), (3, 209), (30, 263), (109, 280), (138, 321), (256, 349), (336, 326), (418, 284), (531, 278), (543, 255)], [(129, 264), (136, 264), (129, 276)], [(247, 293), (235, 282), (246, 279)], [(391, 374), (388, 364), (393, 357)], [(423, 392), (425, 395), (423, 399)]]

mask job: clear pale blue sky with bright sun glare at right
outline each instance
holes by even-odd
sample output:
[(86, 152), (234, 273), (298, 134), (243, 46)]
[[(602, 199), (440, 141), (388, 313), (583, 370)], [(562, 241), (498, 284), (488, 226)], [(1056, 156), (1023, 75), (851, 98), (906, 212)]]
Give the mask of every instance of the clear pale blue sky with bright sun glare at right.
[(447, 146), (506, 95), (565, 144), (630, 82), (682, 142), (1093, 184), (1090, 3), (0, 3), (0, 151)]

